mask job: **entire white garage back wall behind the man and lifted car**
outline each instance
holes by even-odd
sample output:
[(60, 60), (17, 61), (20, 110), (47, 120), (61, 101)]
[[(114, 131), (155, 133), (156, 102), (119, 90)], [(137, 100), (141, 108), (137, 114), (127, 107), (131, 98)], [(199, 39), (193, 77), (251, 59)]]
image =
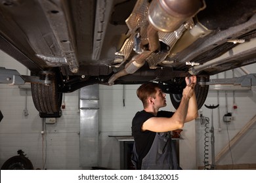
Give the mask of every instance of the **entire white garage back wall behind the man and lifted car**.
[[(1, 67), (16, 69), (26, 75), (26, 68), (0, 52)], [(249, 67), (251, 73), (256, 73), (256, 66)], [(240, 73), (236, 73), (240, 75)], [(137, 99), (138, 85), (100, 86), (99, 109), (99, 167), (119, 169), (118, 135), (131, 135), (131, 119), (135, 112), (142, 109)], [(28, 96), (28, 97), (26, 97)], [(216, 91), (210, 91), (205, 104), (216, 104)], [(224, 93), (221, 96), (221, 116), (224, 110)], [(238, 109), (232, 111), (232, 92), (228, 92), (229, 112), (234, 114), (234, 121), (228, 125), (221, 122), (221, 131), (215, 123), (215, 154), (226, 145), (234, 135), (255, 115), (255, 92), (236, 92)], [(124, 99), (124, 103), (123, 103)], [(163, 110), (174, 110), (167, 96), (167, 107)], [(28, 102), (28, 116), (24, 116), (24, 108)], [(4, 118), (0, 123), (0, 166), (16, 151), (22, 149), (32, 161), (35, 169), (90, 169), (79, 167), (79, 90), (65, 93), (66, 108), (62, 110), (62, 117), (55, 124), (45, 124), (39, 118), (33, 106), (30, 91), (18, 86), (0, 84), (0, 110)], [(125, 104), (125, 105), (124, 105)], [(210, 118), (209, 109), (202, 108), (203, 116)], [(214, 111), (215, 112), (215, 111)], [(217, 114), (215, 112), (214, 114)], [(42, 135), (41, 131), (45, 133)], [(180, 161), (183, 169), (197, 169), (203, 165), (203, 135), (204, 126), (196, 120), (186, 124), (182, 131), (183, 140), (180, 141)], [(256, 163), (255, 125), (249, 129), (241, 141), (232, 147), (232, 159), (227, 153), (219, 164)], [(46, 153), (47, 152), (47, 153)], [(194, 157), (194, 158), (191, 158)], [(233, 161), (233, 162), (232, 162)]]

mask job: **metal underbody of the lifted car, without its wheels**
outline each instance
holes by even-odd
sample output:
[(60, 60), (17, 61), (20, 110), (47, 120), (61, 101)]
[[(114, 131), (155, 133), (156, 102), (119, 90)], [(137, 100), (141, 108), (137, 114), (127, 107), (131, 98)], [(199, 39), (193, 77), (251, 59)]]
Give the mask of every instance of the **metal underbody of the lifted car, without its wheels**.
[[(1, 1), (1, 42), (16, 48), (14, 57), (21, 52), (26, 59), (16, 58), (30, 70), (60, 67), (65, 76), (111, 75), (133, 59), (148, 65), (146, 70), (172, 67), (208, 75), (255, 62), (255, 44), (243, 45), (255, 42), (254, 1), (163, 3)], [(161, 8), (174, 22), (163, 28), (154, 23), (163, 22), (154, 15), (165, 16)], [(244, 51), (235, 53), (236, 46)], [(223, 54), (229, 58), (219, 58)]]

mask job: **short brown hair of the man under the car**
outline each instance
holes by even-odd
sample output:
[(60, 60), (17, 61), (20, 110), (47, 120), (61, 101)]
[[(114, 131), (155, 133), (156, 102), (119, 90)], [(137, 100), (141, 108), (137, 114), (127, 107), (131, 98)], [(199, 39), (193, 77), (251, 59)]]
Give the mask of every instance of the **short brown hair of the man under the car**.
[(147, 99), (148, 97), (156, 97), (156, 88), (160, 88), (160, 86), (155, 82), (148, 82), (145, 84), (142, 84), (137, 89), (137, 96), (139, 97), (140, 101), (142, 101), (143, 107), (146, 107), (148, 105)]

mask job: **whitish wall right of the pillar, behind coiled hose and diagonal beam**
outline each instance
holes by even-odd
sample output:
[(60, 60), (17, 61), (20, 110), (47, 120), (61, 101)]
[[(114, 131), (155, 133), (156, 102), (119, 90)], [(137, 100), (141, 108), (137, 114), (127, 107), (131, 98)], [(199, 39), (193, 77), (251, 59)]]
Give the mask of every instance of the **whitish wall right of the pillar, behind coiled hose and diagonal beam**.
[[(247, 66), (247, 71), (256, 73), (254, 65)], [(219, 78), (232, 78), (232, 71), (227, 71), (219, 74)], [(244, 73), (240, 69), (236, 69), (234, 76), (242, 76)], [(212, 78), (217, 78), (213, 76)], [(206, 105), (217, 105), (218, 93), (210, 90), (205, 101)], [(234, 109), (236, 104), (238, 108)], [(237, 135), (241, 129), (247, 124), (256, 114), (256, 86), (247, 91), (219, 91), (219, 108), (213, 109), (213, 126), (215, 129), (215, 157), (225, 146), (229, 146), (229, 141)], [(227, 110), (226, 110), (227, 108)], [(219, 110), (219, 116), (218, 116)], [(223, 116), (227, 112), (232, 113), (232, 121), (224, 122)], [(211, 128), (211, 109), (202, 107), (200, 110), (203, 116), (209, 118), (209, 129)], [(211, 137), (209, 133), (209, 137)], [(197, 142), (197, 163), (198, 166), (203, 165), (204, 161), (204, 142), (205, 142), (205, 124), (200, 124), (200, 120), (196, 122), (196, 142)], [(255, 168), (256, 163), (256, 122), (252, 125), (244, 135), (232, 146), (228, 147), (228, 151), (221, 156), (221, 159), (216, 162), (216, 165), (235, 165), (245, 164), (244, 167), (250, 165)], [(210, 139), (209, 139), (210, 141)], [(209, 160), (211, 162), (211, 143), (209, 144)], [(247, 165), (246, 165), (247, 164)]]

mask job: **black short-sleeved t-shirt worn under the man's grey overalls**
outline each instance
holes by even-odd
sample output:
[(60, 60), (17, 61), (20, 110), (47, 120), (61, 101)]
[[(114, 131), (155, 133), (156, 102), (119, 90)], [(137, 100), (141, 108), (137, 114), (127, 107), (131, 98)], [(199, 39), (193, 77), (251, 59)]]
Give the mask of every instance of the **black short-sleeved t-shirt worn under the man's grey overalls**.
[[(174, 114), (173, 112), (160, 110), (158, 111), (157, 117), (171, 118), (173, 114)], [(148, 154), (148, 151), (150, 150), (152, 143), (154, 141), (154, 138), (156, 136), (156, 132), (141, 130), (143, 123), (152, 117), (155, 117), (155, 116), (150, 112), (146, 112), (145, 110), (142, 110), (137, 112), (135, 114), (135, 117), (133, 118), (131, 131), (136, 142), (135, 144), (136, 144), (137, 154), (139, 155), (138, 169), (140, 169), (142, 159), (146, 156), (146, 154)]]

